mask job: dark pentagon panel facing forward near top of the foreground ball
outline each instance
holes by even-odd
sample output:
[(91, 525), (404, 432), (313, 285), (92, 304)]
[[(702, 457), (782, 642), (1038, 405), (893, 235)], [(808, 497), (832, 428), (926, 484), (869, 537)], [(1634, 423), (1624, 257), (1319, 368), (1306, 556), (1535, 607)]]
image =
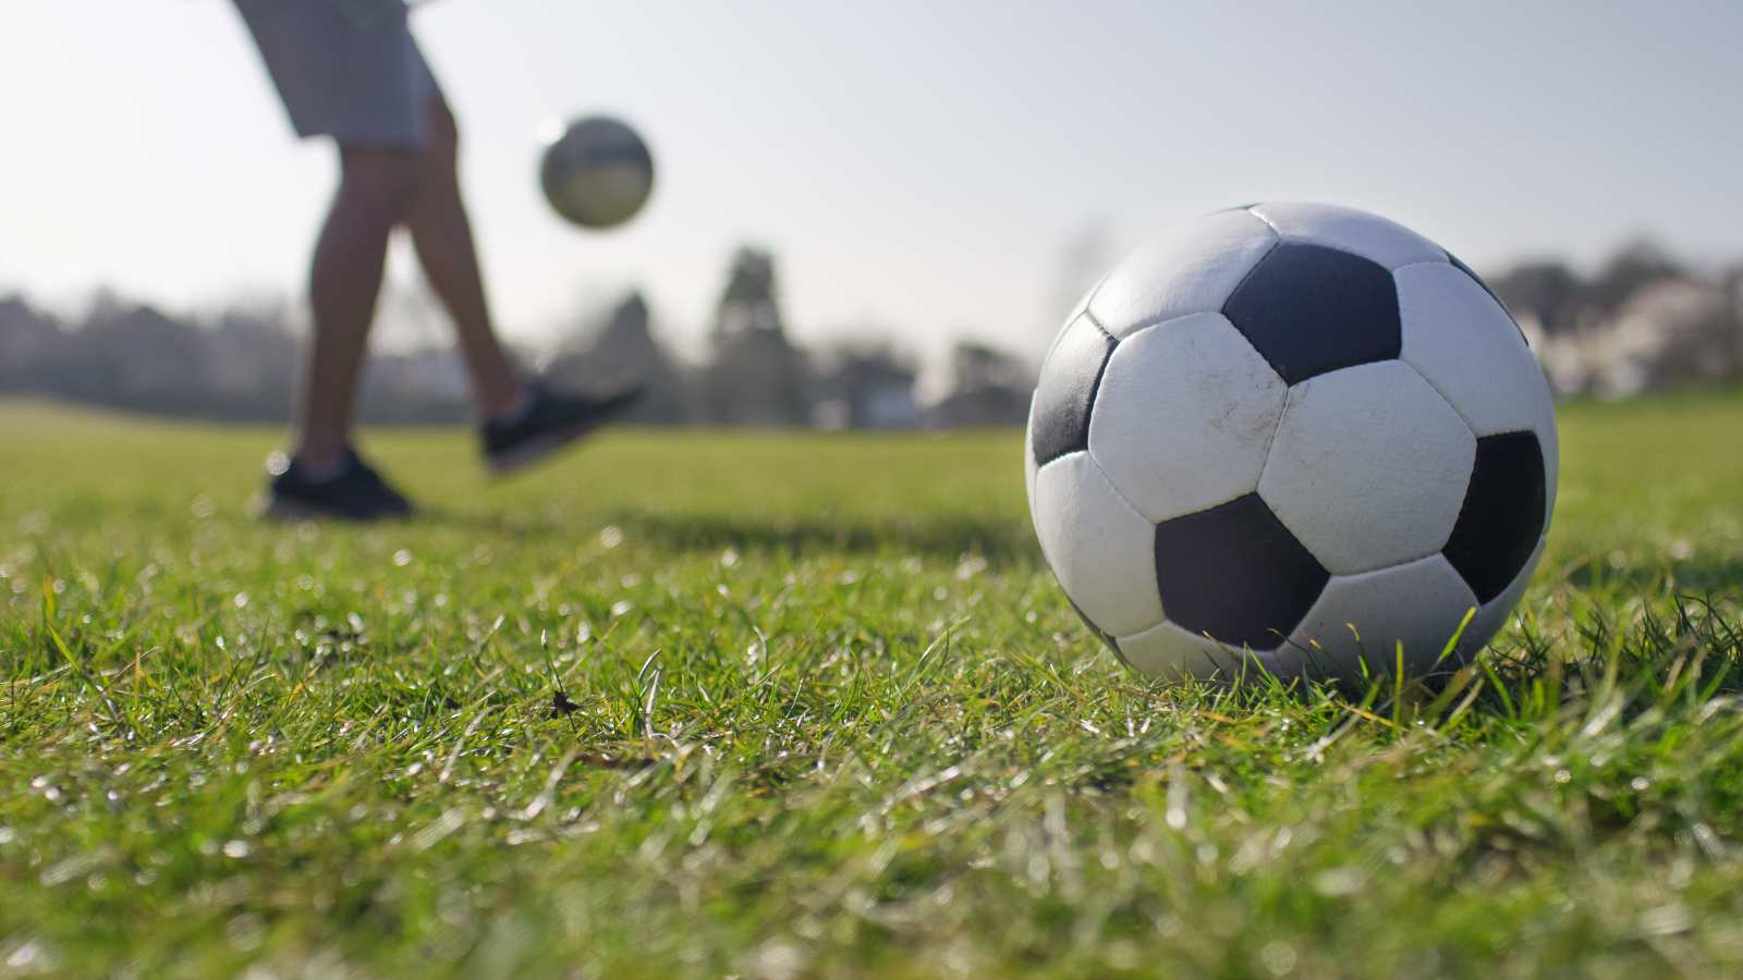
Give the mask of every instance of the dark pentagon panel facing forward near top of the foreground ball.
[(1312, 244), (1281, 244), (1222, 307), (1285, 382), (1398, 356), (1398, 286), (1384, 265)]

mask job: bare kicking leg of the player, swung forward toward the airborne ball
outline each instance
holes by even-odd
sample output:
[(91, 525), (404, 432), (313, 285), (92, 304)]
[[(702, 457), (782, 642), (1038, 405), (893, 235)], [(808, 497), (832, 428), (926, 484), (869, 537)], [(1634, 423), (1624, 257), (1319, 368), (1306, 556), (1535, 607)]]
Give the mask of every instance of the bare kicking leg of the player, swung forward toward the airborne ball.
[(455, 173), (458, 129), (439, 98), (429, 106), (429, 145), (418, 152), (417, 195), (404, 216), (418, 262), (460, 333), (460, 354), (472, 377), (472, 398), (485, 419), (512, 408), (525, 382), (490, 323), (485, 281), (478, 272), (472, 225)]

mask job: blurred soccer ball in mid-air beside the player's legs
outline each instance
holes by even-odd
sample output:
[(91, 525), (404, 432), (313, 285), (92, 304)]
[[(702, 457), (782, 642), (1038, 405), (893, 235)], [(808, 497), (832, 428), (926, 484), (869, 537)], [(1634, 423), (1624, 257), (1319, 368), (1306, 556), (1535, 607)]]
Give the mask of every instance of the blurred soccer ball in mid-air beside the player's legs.
[(584, 228), (610, 228), (634, 218), (654, 190), (647, 143), (615, 119), (577, 119), (546, 148), (539, 167), (546, 201)]

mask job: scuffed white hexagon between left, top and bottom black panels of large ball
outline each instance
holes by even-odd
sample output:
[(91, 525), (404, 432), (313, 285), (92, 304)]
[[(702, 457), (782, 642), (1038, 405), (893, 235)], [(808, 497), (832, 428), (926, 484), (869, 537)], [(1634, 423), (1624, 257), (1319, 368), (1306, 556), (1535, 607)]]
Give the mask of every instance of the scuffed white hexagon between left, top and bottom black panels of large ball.
[(1089, 415), (1089, 455), (1133, 507), (1166, 521), (1258, 487), (1288, 385), (1222, 314), (1119, 342)]

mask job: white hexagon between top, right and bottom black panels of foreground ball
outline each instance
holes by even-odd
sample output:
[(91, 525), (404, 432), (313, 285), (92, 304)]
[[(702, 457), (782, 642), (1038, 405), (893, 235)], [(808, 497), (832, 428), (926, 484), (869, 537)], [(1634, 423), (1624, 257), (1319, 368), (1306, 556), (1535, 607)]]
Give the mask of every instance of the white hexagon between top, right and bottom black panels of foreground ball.
[(1415, 368), (1358, 364), (1290, 389), (1258, 495), (1330, 574), (1354, 575), (1440, 551), (1475, 455)]

